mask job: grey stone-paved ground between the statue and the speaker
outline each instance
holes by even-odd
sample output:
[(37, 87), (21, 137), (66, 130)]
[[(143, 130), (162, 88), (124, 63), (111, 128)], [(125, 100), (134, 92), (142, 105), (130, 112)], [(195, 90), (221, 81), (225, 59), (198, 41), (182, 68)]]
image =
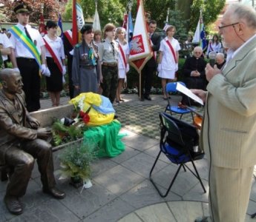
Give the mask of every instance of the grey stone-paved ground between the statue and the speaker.
[[(0, 201), (0, 221), (194, 221), (200, 215), (208, 215), (207, 160), (196, 161), (197, 169), (206, 186), (206, 194), (190, 172), (181, 171), (166, 198), (161, 198), (148, 179), (149, 171), (159, 152), (159, 118), (166, 101), (160, 95), (152, 95), (152, 101), (139, 101), (137, 95), (122, 95), (125, 102), (114, 104), (122, 123), (122, 139), (125, 152), (116, 158), (102, 158), (93, 163), (93, 186), (75, 189), (69, 181), (57, 179), (58, 186), (67, 197), (56, 200), (42, 193), (39, 171), (34, 167), (27, 193), (21, 199), (24, 213), (10, 215)], [(171, 96), (176, 104), (180, 96)], [(62, 98), (66, 104), (68, 98)], [(49, 100), (41, 101), (42, 109), (51, 106)], [(148, 128), (147, 130), (143, 130)], [(58, 154), (53, 154), (55, 175), (59, 178)], [(166, 190), (177, 166), (160, 157), (154, 179)], [(4, 198), (7, 182), (0, 182), (0, 199)], [(256, 221), (249, 215), (256, 212), (256, 181), (252, 178), (252, 193), (247, 221)]]

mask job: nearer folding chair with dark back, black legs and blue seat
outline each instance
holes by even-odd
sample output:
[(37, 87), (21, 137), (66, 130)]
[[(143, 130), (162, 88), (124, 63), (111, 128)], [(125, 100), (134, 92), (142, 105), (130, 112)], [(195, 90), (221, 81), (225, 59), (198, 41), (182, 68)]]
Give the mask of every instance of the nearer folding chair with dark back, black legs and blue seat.
[[(161, 112), (159, 116), (161, 121), (160, 152), (158, 153), (157, 158), (154, 161), (154, 164), (149, 173), (151, 183), (157, 189), (157, 192), (159, 192), (160, 196), (165, 198), (168, 195), (168, 192), (170, 192), (171, 186), (174, 184), (174, 181), (177, 178), (181, 167), (183, 167), (185, 171), (188, 169), (198, 179), (201, 186), (203, 187), (203, 192), (206, 192), (206, 189), (203, 186), (203, 182), (197, 171), (197, 167), (194, 164), (194, 161), (200, 160), (204, 157), (204, 152), (200, 151), (200, 149), (195, 150), (195, 148), (198, 148), (199, 144), (197, 127), (174, 118), (165, 112)], [(157, 164), (158, 159), (160, 158), (161, 153), (165, 154), (171, 163), (177, 164), (179, 166), (174, 177), (171, 179), (171, 183), (168, 186), (165, 194), (160, 191), (159, 187), (152, 178), (152, 172)], [(189, 162), (191, 162), (194, 171), (186, 165), (186, 163)]]

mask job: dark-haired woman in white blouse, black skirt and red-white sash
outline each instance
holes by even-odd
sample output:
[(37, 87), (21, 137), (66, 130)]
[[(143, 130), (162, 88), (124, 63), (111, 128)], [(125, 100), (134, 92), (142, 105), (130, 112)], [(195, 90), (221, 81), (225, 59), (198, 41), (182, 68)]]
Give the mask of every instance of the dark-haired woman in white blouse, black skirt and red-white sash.
[(57, 24), (54, 21), (46, 23), (47, 35), (44, 36), (47, 66), (50, 76), (46, 78), (46, 89), (49, 92), (53, 107), (59, 106), (60, 92), (63, 90), (65, 67), (65, 53), (62, 38), (56, 36)]

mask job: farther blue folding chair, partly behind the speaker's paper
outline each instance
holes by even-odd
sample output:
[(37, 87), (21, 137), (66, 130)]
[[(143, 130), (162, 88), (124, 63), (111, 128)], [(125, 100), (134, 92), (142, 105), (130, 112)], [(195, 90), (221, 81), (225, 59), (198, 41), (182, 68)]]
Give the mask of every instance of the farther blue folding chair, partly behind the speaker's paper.
[[(178, 81), (178, 82), (180, 84), (182, 84), (184, 87), (186, 87), (186, 84), (184, 84), (182, 81)], [(172, 93), (177, 92), (176, 87), (177, 87), (177, 82), (169, 82), (168, 84), (166, 84), (166, 88), (165, 88), (166, 93), (169, 94), (171, 92)], [(192, 120), (194, 121), (194, 115), (192, 112), (194, 112), (195, 110), (194, 110), (194, 108), (190, 107), (189, 98), (188, 98), (189, 107), (171, 106), (171, 101), (170, 101), (170, 98), (168, 98), (168, 96), (167, 96), (167, 101), (168, 101), (168, 104), (165, 107), (165, 112), (169, 111), (171, 113), (171, 115), (172, 115), (172, 112), (180, 114), (180, 119), (183, 117), (183, 114), (190, 113)]]

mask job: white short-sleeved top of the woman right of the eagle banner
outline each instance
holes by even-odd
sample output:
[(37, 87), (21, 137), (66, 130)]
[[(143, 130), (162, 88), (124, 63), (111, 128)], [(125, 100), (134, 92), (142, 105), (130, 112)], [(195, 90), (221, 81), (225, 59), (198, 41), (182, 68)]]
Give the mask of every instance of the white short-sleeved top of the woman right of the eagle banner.
[[(171, 49), (168, 46), (168, 44), (166, 43), (166, 40), (169, 41), (168, 38), (165, 37), (160, 42), (160, 49), (159, 49), (163, 53), (162, 61), (161, 61), (162, 69), (163, 70), (175, 70), (176, 62), (174, 59), (174, 55), (171, 53)], [(174, 53), (176, 56), (176, 52), (180, 50), (180, 43), (175, 38), (172, 38), (170, 43), (174, 49)]]

